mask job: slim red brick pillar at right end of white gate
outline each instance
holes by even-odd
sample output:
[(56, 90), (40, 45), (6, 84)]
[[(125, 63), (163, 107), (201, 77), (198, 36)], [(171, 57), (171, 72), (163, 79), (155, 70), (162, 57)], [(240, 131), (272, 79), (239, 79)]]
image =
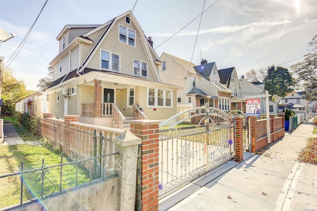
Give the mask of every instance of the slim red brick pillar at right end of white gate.
[(235, 117), (236, 128), (234, 133), (234, 141), (236, 162), (243, 161), (243, 118), (244, 117)]

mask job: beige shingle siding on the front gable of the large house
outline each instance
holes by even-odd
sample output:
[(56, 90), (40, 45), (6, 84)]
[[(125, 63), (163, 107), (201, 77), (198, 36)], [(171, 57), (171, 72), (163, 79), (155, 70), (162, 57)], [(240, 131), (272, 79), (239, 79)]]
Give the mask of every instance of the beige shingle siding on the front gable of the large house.
[[(141, 35), (135, 27), (134, 23), (131, 21), (131, 24), (126, 25), (126, 28), (135, 31), (136, 33), (135, 47), (122, 42), (118, 42), (119, 24), (121, 26), (125, 26), (125, 17), (113, 23), (111, 30), (108, 32), (105, 40), (97, 49), (96, 53), (88, 63), (87, 67), (100, 70), (100, 50), (106, 50), (111, 52), (114, 49), (113, 53), (118, 54), (120, 56), (120, 73), (133, 75), (133, 61), (134, 59), (136, 59), (139, 61), (146, 62), (148, 64), (148, 79), (155, 80), (150, 62), (148, 60), (148, 57), (146, 56), (146, 52), (144, 51), (144, 47), (140, 41)], [(102, 31), (104, 31), (104, 29), (102, 29)], [(152, 59), (151, 54), (149, 54), (148, 56)]]

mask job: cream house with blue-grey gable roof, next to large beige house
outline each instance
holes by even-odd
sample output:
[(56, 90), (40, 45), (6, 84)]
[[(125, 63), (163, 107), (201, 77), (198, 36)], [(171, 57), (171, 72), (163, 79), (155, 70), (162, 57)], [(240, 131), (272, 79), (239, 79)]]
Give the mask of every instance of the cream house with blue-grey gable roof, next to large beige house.
[(161, 54), (160, 60), (162, 68), (159, 76), (162, 82), (182, 87), (177, 91), (178, 112), (206, 103), (223, 111), (230, 110), (233, 92), (219, 83), (215, 62), (203, 60), (201, 65), (195, 65), (165, 52)]

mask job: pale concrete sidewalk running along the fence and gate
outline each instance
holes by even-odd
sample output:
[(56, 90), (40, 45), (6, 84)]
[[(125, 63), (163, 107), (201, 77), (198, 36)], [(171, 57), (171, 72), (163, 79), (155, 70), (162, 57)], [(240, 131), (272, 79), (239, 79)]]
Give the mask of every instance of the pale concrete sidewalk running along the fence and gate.
[(312, 120), (267, 149), (245, 153), (159, 201), (169, 211), (300, 211), (317, 210), (317, 165), (297, 161), (312, 135)]

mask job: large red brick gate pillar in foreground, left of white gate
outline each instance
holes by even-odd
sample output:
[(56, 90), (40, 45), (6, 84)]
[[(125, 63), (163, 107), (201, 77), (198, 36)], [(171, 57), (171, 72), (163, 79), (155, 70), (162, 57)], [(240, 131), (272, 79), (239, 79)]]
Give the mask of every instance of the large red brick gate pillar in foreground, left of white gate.
[(130, 131), (142, 139), (142, 211), (159, 210), (159, 123), (160, 121), (156, 120), (135, 120), (130, 122)]

